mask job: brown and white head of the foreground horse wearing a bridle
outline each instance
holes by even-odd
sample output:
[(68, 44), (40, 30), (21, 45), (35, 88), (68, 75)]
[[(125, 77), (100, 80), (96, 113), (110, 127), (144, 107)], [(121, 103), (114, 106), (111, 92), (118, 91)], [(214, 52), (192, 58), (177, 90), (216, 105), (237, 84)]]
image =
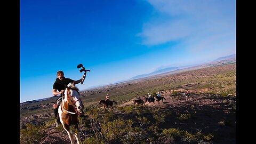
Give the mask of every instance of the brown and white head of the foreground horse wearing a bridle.
[[(69, 105), (74, 106), (75, 110), (77, 110), (78, 113), (83, 114), (84, 111), (84, 105), (82, 100), (80, 99), (80, 93), (76, 86), (74, 85), (68, 85), (66, 87), (65, 95), (67, 95), (67, 101)], [(79, 114), (78, 114), (79, 115)]]

